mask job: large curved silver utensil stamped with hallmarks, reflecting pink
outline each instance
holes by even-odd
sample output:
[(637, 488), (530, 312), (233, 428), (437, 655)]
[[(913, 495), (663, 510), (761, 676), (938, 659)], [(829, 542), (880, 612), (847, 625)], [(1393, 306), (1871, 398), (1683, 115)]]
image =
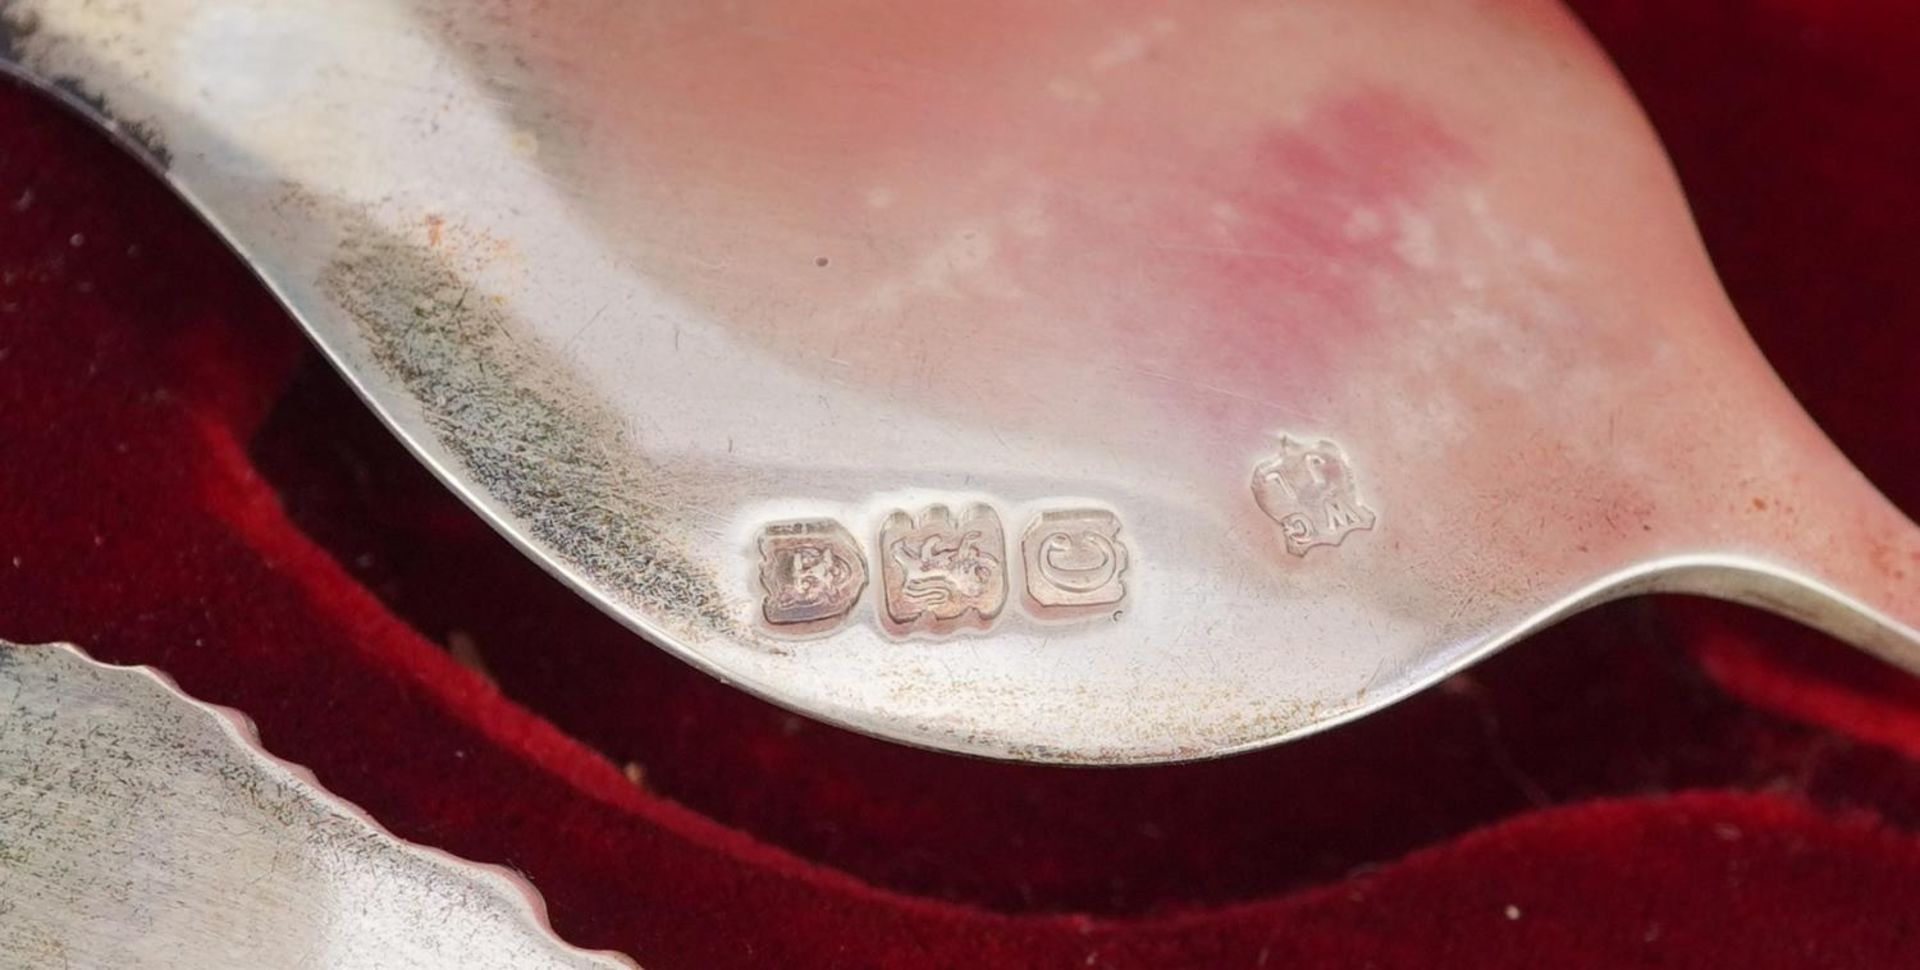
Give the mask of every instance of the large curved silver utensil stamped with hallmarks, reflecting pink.
[(505, 536), (795, 711), (1212, 757), (1647, 590), (1920, 667), (1920, 530), (1553, 4), (0, 10)]

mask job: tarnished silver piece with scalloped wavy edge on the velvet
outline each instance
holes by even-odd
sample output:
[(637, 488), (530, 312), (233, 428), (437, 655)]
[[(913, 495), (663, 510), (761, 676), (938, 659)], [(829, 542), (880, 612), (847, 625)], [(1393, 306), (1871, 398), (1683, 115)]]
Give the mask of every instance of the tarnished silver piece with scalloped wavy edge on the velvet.
[(0, 642), (0, 962), (634, 970), (522, 878), (382, 830), (144, 667)]

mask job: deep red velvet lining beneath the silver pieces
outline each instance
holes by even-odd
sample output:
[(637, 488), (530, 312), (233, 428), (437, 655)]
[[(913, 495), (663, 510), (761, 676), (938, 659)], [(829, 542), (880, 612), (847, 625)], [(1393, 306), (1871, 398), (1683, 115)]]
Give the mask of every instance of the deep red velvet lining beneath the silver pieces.
[[(1920, 25), (1864, 0), (1580, 12), (1763, 346), (1920, 507)], [(1148, 770), (910, 751), (720, 688), (493, 538), (161, 186), (6, 88), (0, 459), (0, 636), (165, 668), (647, 966), (1920, 943), (1920, 686), (1730, 607), (1622, 603), (1352, 728)]]

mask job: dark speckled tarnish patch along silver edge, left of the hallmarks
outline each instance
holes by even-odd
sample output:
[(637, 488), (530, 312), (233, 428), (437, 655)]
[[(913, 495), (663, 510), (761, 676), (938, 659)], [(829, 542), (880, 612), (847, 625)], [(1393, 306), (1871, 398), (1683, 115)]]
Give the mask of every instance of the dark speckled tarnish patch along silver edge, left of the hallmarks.
[[(326, 209), (286, 198), (292, 219)], [(330, 215), (348, 232), (319, 286), (359, 323), (378, 367), (426, 405), (463, 473), (442, 469), (449, 484), (478, 484), (532, 540), (678, 632), (735, 632), (718, 580), (685, 549), (674, 509), (687, 486), (628, 448), (620, 419), (572, 388), (549, 352), (515, 340), (516, 321), (444, 257), (351, 211)]]

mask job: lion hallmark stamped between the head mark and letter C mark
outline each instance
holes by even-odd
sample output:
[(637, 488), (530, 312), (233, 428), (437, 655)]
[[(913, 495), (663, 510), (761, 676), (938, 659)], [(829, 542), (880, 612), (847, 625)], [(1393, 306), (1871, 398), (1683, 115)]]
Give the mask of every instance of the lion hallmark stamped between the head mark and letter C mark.
[(960, 521), (945, 505), (927, 505), (918, 521), (897, 511), (879, 528), (879, 574), (887, 618), (899, 626), (968, 611), (993, 620), (1006, 605), (1000, 517), (987, 505), (970, 507)]

